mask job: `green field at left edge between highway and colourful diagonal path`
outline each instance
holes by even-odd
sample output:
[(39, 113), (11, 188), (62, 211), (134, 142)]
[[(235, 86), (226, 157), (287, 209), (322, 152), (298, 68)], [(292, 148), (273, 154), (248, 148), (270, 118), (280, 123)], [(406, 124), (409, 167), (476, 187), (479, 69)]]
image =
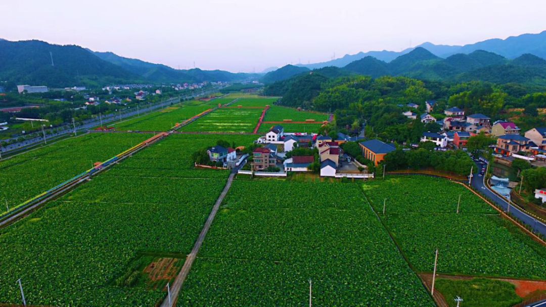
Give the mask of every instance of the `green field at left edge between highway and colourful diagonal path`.
[(0, 162), (0, 200), (10, 208), (148, 139), (150, 134), (87, 134)]

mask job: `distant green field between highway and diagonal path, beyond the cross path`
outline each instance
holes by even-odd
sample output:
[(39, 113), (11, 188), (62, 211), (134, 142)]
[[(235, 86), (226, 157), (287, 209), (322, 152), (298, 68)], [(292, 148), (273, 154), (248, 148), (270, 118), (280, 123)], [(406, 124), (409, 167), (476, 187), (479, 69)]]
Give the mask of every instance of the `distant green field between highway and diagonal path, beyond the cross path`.
[(168, 131), (170, 128), (173, 128), (176, 123), (181, 123), (210, 108), (210, 105), (205, 105), (199, 101), (188, 101), (147, 115), (135, 117), (125, 122), (114, 124), (112, 127), (122, 131)]

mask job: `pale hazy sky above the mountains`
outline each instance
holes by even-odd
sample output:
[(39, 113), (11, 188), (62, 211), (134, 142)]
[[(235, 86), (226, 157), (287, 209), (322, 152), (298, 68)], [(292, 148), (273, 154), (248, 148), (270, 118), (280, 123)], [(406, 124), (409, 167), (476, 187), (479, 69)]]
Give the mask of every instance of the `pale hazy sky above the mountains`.
[(0, 38), (234, 72), (546, 30), (544, 0), (1, 0), (0, 12)]

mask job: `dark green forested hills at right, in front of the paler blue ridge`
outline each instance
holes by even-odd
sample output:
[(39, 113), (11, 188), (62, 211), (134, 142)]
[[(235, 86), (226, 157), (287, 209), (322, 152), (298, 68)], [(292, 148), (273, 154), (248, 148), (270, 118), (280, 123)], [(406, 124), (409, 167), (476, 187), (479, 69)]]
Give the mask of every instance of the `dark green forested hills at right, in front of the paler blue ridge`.
[[(272, 71), (266, 76), (275, 76), (271, 79), (276, 81), (289, 79), (298, 73), (298, 70), (294, 69), (296, 67), (290, 66)], [(458, 53), (444, 59), (419, 47), (389, 63), (368, 56), (349, 63), (343, 68), (325, 67), (315, 69), (313, 73), (320, 73), (327, 77), (351, 74), (372, 77), (389, 75), (450, 83), (488, 81), (546, 86), (546, 61), (544, 59), (531, 54), (507, 59), (496, 53), (483, 50), (476, 50), (469, 54)], [(336, 75), (332, 76), (332, 73)]]

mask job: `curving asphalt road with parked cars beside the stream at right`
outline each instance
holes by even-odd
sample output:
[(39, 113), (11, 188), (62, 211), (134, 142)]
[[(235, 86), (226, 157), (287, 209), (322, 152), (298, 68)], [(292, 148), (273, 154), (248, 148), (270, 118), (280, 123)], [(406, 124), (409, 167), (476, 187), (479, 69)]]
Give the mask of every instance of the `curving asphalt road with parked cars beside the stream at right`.
[(543, 222), (533, 218), (533, 216), (527, 215), (527, 213), (521, 211), (517, 207), (509, 205), (504, 198), (496, 195), (494, 192), (492, 192), (485, 186), (483, 182), (484, 177), (480, 174), (480, 170), (486, 167), (487, 164), (481, 161), (478, 162), (477, 164), (478, 164), (478, 170), (476, 171), (476, 173), (474, 173), (474, 177), (472, 178), (472, 186), (476, 188), (476, 190), (485, 194), (485, 196), (487, 196), (491, 201), (497, 203), (498, 206), (500, 206), (503, 210), (505, 210), (505, 212), (507, 211), (508, 206), (510, 206), (510, 213), (512, 215), (514, 215), (519, 220), (523, 221), (525, 224), (531, 226), (534, 232), (538, 232), (538, 233), (541, 233), (543, 236), (546, 236), (546, 225)]

